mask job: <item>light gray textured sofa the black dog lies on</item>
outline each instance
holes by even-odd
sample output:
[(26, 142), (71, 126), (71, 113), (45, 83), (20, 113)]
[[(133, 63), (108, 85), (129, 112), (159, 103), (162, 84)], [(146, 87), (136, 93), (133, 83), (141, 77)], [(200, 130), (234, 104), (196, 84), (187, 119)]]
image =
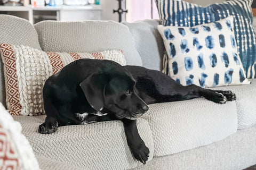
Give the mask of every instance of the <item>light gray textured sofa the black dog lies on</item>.
[[(162, 70), (164, 46), (160, 21), (55, 22), (31, 25), (0, 15), (0, 43), (51, 52), (99, 52), (122, 49), (127, 65)], [(0, 102), (5, 104), (3, 63)], [(63, 126), (39, 134), (45, 115), (13, 116), (22, 125), (42, 169), (243, 169), (256, 164), (256, 80), (230, 89), (237, 100), (225, 105), (204, 98), (149, 105), (138, 130), (150, 157), (135, 160), (121, 121)]]

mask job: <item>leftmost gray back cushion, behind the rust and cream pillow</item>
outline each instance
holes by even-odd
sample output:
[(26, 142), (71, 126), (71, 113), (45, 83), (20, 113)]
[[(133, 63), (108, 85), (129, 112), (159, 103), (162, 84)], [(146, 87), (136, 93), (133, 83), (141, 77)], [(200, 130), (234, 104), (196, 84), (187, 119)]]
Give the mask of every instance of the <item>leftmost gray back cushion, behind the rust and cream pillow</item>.
[[(11, 15), (0, 15), (0, 43), (25, 45), (41, 49), (37, 32), (33, 25), (25, 19)], [(3, 62), (0, 57), (0, 102), (5, 103), (5, 86)]]

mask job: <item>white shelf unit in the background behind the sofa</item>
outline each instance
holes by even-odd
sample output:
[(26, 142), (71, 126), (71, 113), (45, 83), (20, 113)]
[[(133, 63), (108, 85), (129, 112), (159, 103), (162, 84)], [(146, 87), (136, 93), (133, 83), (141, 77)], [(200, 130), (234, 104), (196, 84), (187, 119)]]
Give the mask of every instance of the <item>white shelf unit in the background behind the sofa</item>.
[(100, 5), (0, 6), (0, 14), (18, 16), (35, 24), (43, 20), (101, 20), (102, 8)]

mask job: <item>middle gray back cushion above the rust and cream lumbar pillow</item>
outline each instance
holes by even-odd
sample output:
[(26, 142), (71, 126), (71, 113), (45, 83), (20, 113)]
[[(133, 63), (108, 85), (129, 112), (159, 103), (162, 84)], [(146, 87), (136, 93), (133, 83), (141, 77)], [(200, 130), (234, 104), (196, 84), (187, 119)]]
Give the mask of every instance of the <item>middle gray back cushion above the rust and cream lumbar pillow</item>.
[(98, 52), (121, 49), (127, 65), (142, 65), (129, 28), (114, 21), (42, 21), (34, 25), (47, 52)]

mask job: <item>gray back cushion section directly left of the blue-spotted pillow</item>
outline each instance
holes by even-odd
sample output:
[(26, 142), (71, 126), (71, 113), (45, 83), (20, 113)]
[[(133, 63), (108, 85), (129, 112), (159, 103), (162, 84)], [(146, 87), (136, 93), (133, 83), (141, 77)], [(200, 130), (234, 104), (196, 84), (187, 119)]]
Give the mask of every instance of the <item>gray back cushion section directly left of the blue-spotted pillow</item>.
[(158, 71), (162, 71), (165, 52), (163, 39), (157, 30), (157, 25), (161, 23), (161, 20), (123, 22), (133, 35), (135, 48), (141, 56), (142, 66)]

